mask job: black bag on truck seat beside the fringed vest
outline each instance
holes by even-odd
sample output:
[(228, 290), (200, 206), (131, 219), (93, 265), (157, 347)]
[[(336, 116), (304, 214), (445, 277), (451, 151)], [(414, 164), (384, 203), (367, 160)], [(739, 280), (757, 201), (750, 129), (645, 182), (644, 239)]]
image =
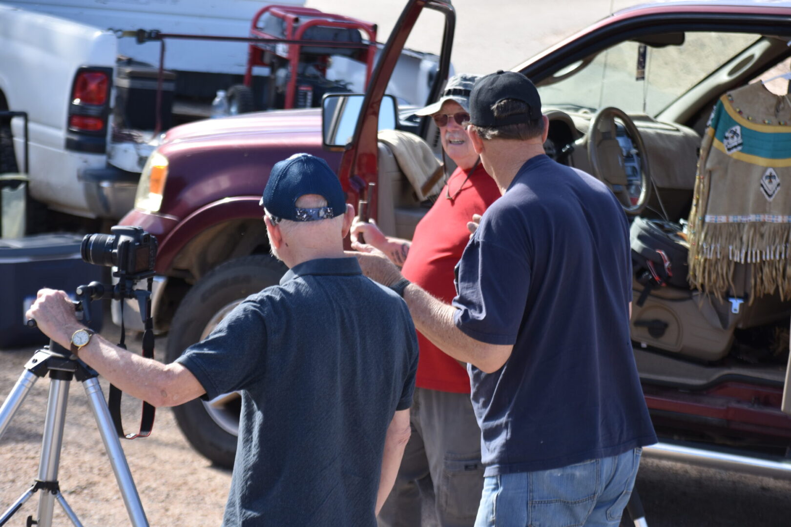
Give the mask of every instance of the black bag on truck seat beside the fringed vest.
[(681, 235), (680, 224), (638, 216), (632, 222), (630, 244), (635, 277), (645, 286), (640, 300), (645, 301), (645, 295), (657, 287), (689, 288), (689, 244)]

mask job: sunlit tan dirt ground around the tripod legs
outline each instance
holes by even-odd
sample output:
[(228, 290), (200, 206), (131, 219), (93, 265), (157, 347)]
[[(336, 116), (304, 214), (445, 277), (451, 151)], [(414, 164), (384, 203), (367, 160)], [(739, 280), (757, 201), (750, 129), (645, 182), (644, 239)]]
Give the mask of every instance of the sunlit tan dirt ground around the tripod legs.
[[(117, 340), (118, 329), (105, 326), (104, 336)], [(129, 344), (130, 349), (140, 348), (139, 342)], [(157, 340), (158, 358), (164, 349), (164, 340)], [(0, 350), (0, 401), (5, 401), (34, 350)], [(100, 382), (106, 398), (108, 383)], [(63, 496), (86, 527), (130, 525), (85, 390), (77, 381), (71, 385), (59, 472)], [(48, 378), (32, 386), (0, 439), (0, 513), (30, 487), (38, 473), (48, 387)], [(124, 398), (127, 432), (138, 426), (140, 410), (139, 401)], [(213, 467), (191, 449), (169, 408), (157, 410), (150, 437), (122, 440), (122, 446), (150, 525), (220, 525), (231, 473)], [(36, 494), (7, 525), (25, 525), (28, 515), (36, 516), (37, 506)], [(71, 525), (57, 504), (53, 525)]]

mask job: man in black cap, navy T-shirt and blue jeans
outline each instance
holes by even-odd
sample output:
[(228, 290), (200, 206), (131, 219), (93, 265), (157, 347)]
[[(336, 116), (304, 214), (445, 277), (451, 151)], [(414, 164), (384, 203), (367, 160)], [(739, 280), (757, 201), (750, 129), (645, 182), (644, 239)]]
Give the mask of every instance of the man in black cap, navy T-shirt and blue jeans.
[(603, 183), (544, 154), (540, 108), (520, 73), (475, 84), (471, 140), (503, 195), (457, 265), (452, 307), (360, 260), (470, 364), (486, 466), (475, 525), (618, 525), (656, 442), (630, 343), (629, 229)]

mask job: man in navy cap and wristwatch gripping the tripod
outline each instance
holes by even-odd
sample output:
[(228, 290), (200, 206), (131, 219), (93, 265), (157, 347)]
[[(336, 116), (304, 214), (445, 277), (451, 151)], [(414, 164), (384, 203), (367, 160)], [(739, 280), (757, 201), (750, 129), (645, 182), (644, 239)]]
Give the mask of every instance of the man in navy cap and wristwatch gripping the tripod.
[[(410, 435), (409, 311), (343, 253), (354, 209), (324, 160), (275, 164), (262, 203), (271, 250), (290, 267), (280, 285), (249, 296), (171, 364), (99, 335), (74, 352), (156, 406), (240, 391), (226, 527), (375, 527)], [(64, 292), (39, 292), (28, 317), (66, 347), (85, 331)]]

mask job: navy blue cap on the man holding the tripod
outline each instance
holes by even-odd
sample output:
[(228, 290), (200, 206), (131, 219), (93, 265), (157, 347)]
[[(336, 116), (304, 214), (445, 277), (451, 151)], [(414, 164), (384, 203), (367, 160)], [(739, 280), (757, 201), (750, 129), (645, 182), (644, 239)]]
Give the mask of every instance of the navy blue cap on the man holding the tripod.
[[(297, 199), (305, 194), (319, 194), (327, 200), (327, 206), (297, 207)], [(310, 154), (294, 154), (275, 163), (260, 203), (277, 220), (326, 220), (346, 212), (346, 194), (338, 176), (327, 161)]]

